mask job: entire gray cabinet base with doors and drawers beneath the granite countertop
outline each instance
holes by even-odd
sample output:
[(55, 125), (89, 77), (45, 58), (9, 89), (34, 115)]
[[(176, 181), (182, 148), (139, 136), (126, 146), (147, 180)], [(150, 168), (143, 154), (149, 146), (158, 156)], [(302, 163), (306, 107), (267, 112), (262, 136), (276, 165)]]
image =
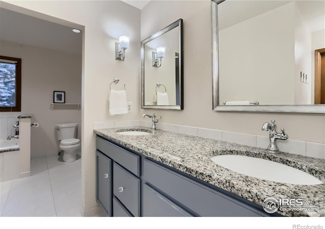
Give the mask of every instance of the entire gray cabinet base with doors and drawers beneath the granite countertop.
[(270, 216), (262, 206), (102, 137), (96, 148), (97, 202), (108, 216)]

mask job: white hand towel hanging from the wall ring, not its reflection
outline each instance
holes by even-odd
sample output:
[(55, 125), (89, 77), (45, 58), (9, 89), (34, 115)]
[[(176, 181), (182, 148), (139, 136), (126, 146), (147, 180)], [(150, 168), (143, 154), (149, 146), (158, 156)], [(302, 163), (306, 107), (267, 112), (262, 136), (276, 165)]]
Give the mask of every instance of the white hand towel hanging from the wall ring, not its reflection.
[(127, 113), (125, 90), (121, 90), (121, 91), (111, 90), (109, 101), (110, 101), (109, 111), (111, 116)]

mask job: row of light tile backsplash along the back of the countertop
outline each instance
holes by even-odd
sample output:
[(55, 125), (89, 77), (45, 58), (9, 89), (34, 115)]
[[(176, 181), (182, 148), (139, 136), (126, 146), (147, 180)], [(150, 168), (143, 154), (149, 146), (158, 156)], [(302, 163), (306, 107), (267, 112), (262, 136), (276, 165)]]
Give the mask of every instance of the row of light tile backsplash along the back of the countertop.
[[(151, 122), (146, 120), (133, 121), (111, 121), (109, 123), (94, 123), (94, 129), (117, 128), (127, 126), (145, 126), (151, 127)], [(229, 131), (197, 128), (191, 126), (174, 125), (168, 123), (157, 123), (157, 129), (183, 133), (188, 135), (211, 138), (215, 140), (230, 141), (237, 144), (267, 148), (269, 146), (269, 136), (236, 133)], [(325, 159), (325, 144), (300, 140), (278, 140), (279, 150), (291, 154), (299, 154), (314, 158)]]

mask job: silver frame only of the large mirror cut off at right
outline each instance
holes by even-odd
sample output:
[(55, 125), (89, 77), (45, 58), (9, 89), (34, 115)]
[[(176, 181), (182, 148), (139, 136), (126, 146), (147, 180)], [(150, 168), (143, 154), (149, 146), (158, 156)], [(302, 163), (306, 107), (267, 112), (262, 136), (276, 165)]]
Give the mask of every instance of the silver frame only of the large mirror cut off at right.
[(246, 105), (220, 106), (219, 104), (219, 62), (218, 62), (218, 4), (225, 0), (211, 0), (212, 33), (212, 110), (213, 111), (256, 111), (256, 112), (297, 112), (325, 113), (325, 105)]

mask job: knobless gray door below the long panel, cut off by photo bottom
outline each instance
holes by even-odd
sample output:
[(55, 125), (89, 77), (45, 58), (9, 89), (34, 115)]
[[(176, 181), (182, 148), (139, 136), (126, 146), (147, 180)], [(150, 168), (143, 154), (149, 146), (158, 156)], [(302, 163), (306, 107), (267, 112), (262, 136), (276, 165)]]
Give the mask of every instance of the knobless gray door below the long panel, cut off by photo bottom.
[(154, 190), (146, 183), (143, 185), (142, 216), (192, 216), (164, 194)]

